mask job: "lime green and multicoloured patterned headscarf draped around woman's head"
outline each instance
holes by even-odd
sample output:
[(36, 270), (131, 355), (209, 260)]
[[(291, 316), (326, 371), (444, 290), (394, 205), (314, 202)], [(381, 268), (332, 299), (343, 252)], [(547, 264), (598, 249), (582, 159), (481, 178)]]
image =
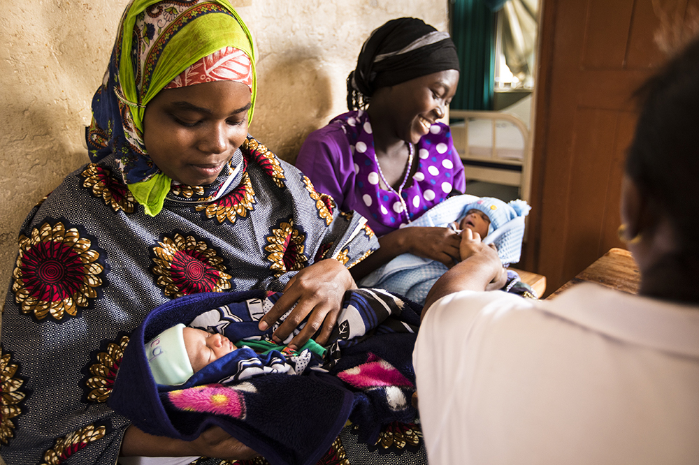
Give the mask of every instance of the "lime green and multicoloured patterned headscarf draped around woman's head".
[[(249, 123), (257, 96), (252, 36), (226, 0), (134, 0), (124, 10), (107, 72), (92, 98), (87, 147), (93, 162), (117, 154), (117, 171), (147, 214), (160, 212), (171, 179), (145, 149), (145, 106), (186, 68), (224, 47), (242, 50), (252, 64)], [(235, 165), (231, 161), (224, 171)]]

